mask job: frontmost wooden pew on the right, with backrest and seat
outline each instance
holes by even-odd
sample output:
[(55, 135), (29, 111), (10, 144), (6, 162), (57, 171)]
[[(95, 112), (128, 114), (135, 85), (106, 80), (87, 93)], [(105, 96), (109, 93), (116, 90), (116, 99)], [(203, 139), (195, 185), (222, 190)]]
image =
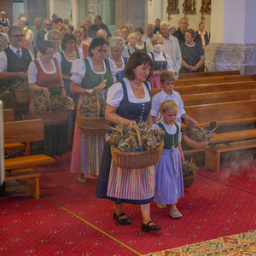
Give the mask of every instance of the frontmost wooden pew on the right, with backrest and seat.
[[(186, 113), (196, 119), (199, 124), (217, 122), (223, 125), (232, 125), (234, 121), (255, 119), (256, 100), (241, 102), (222, 102), (207, 105), (189, 106)], [(212, 171), (219, 171), (220, 153), (244, 148), (256, 147), (256, 129), (245, 131), (230, 131), (213, 136), (210, 147), (205, 149), (205, 167)], [(239, 142), (236, 142), (239, 141)], [(211, 145), (212, 143), (225, 143)]]

